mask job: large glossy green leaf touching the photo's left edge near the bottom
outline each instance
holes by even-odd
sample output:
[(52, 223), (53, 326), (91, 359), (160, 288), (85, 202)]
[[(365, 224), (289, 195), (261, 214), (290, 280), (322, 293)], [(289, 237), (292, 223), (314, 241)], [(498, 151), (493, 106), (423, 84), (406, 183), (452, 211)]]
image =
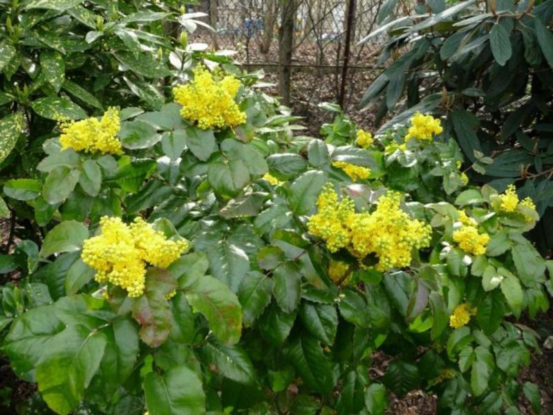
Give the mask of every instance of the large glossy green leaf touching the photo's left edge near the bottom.
[(65, 329), (54, 313), (54, 306), (32, 308), (17, 317), (3, 342), (3, 353), (10, 358), (13, 371), (28, 382), (34, 381), (34, 369), (50, 349), (52, 339)]

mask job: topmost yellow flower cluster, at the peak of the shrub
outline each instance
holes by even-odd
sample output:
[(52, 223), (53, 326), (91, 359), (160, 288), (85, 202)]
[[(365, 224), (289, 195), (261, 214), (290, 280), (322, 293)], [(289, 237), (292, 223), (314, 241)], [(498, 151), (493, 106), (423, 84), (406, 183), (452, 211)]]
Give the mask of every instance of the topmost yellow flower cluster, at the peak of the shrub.
[(220, 80), (202, 66), (194, 69), (194, 80), (175, 86), (173, 93), (182, 105), (183, 118), (198, 122), (200, 129), (235, 127), (246, 122), (246, 114), (234, 101), (240, 88), (240, 80), (232, 75)]

